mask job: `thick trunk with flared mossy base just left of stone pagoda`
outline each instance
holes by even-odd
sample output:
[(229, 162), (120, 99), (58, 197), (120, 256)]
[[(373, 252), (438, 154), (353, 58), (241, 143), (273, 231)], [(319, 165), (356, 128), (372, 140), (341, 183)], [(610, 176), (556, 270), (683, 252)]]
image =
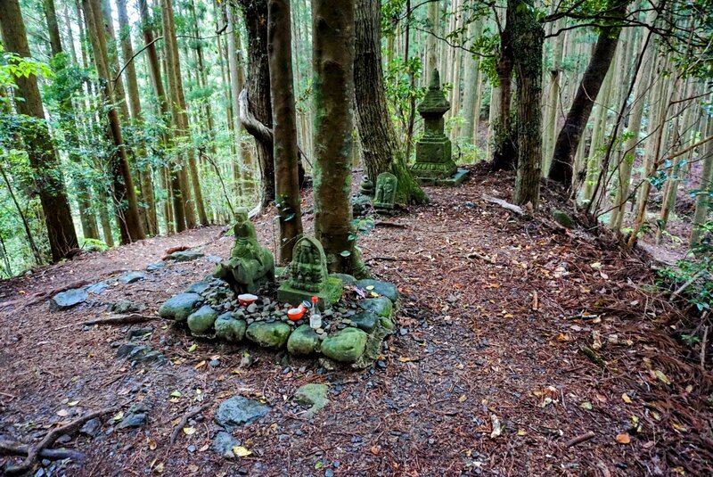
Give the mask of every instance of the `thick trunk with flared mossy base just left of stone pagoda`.
[(381, 172), (389, 171), (397, 177), (397, 201), (424, 203), (428, 198), (406, 165), (406, 155), (398, 144), (386, 103), (380, 32), (381, 2), (356, 0), (356, 126), (364, 145), (366, 176), (375, 184)]

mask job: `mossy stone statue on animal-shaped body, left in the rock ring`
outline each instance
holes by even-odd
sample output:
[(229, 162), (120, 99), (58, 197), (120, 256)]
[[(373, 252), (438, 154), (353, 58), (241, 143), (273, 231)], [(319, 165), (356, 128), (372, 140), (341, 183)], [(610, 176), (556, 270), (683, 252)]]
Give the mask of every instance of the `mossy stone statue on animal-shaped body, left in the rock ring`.
[(236, 215), (230, 259), (217, 264), (213, 276), (225, 280), (234, 292), (255, 293), (264, 284), (275, 281), (275, 259), (269, 250), (260, 247), (248, 210), (241, 208)]

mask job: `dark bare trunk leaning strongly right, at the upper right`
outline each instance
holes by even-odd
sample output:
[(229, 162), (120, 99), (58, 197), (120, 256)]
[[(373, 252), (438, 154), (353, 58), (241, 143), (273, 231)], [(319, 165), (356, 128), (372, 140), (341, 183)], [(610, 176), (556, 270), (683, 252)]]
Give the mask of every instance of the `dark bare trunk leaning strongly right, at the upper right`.
[[(620, 2), (619, 5), (611, 13), (616, 18), (623, 17), (626, 14), (628, 4), (628, 0), (618, 1)], [(564, 126), (562, 126), (560, 134), (557, 136), (557, 142), (554, 144), (550, 178), (568, 189), (572, 183), (574, 154), (577, 151), (582, 131), (589, 120), (594, 101), (599, 95), (602, 82), (611, 66), (611, 59), (617, 49), (620, 33), (620, 27), (602, 28), (594, 46), (592, 58), (579, 84), (577, 95), (572, 101), (570, 111), (567, 113), (567, 119), (565, 119)]]

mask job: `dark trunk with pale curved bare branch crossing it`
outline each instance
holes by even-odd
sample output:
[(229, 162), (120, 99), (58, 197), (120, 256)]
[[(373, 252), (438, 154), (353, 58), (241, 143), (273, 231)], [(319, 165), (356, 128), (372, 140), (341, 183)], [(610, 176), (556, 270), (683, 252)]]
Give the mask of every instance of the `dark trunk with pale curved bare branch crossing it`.
[[(248, 31), (247, 90), (250, 112), (264, 126), (272, 129), (270, 69), (267, 64), (267, 0), (238, 0), (238, 3)], [(255, 145), (262, 177), (260, 200), (261, 205), (266, 206), (275, 201), (273, 144), (255, 136)]]

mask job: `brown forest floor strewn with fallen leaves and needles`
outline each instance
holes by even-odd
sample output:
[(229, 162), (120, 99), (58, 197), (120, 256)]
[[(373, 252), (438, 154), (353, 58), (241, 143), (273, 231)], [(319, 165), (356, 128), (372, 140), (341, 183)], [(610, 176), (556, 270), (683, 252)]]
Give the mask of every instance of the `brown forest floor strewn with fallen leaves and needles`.
[[(653, 292), (647, 256), (623, 251), (608, 234), (556, 226), (548, 218), (559, 202), (546, 190), (537, 218), (481, 199), (507, 201), (511, 184), (506, 174), (476, 167), (463, 187), (428, 188), (430, 204), (382, 218), (398, 226), (360, 237), (373, 276), (397, 284), (402, 297), (397, 333), (362, 372), (196, 340), (160, 320), (83, 325), (116, 300), (155, 314), (209, 274), (212, 259), (228, 255), (233, 239), (223, 227), (86, 254), (6, 281), (0, 439), (37, 443), (58, 423), (111, 407), (94, 438), (65, 438), (63, 446), (86, 454), (81, 465), (45, 462), (37, 475), (713, 474), (711, 374), (676, 339), (684, 317)], [(271, 218), (258, 218), (257, 228), (273, 249)], [(50, 311), (47, 292), (143, 270), (175, 245), (201, 246), (205, 256)], [(131, 366), (116, 357), (116, 345), (137, 327), (152, 328), (144, 342), (168, 363)], [(246, 351), (247, 369), (240, 367)], [(211, 359), (217, 366), (206, 365)], [(330, 388), (329, 405), (309, 419), (291, 400), (307, 382)], [(211, 421), (234, 395), (258, 397), (271, 410), (234, 432), (252, 454), (226, 459), (210, 449)], [(186, 424), (195, 432), (171, 444), (176, 419), (196, 397), (207, 407)], [(111, 416), (138, 401), (148, 423), (116, 429)]]

